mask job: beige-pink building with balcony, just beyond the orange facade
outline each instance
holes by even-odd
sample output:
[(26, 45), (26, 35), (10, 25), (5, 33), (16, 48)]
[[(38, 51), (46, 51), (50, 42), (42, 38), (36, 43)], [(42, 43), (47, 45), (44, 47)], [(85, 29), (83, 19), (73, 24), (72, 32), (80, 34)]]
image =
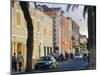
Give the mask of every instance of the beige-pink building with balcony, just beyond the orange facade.
[(68, 23), (68, 53), (77, 54), (80, 46), (79, 25), (71, 18), (67, 17)]

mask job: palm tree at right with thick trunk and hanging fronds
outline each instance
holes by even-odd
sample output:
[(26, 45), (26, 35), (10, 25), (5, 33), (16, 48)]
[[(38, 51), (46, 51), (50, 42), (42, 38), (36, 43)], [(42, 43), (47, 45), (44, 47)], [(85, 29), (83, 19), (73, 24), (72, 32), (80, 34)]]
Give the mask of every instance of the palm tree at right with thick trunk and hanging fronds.
[[(67, 6), (67, 11), (72, 7), (72, 11), (78, 8), (79, 5)], [(84, 6), (83, 17), (85, 19), (86, 13), (88, 14), (87, 24), (88, 24), (88, 50), (90, 52), (90, 65), (95, 65), (96, 63), (96, 6)], [(93, 60), (93, 61), (92, 61)], [(94, 67), (95, 68), (95, 67)]]

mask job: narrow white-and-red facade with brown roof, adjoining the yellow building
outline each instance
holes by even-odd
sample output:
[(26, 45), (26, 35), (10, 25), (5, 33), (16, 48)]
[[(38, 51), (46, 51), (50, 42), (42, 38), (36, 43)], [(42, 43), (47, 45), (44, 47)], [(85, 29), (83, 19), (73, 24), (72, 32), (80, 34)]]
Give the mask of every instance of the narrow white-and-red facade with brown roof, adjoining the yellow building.
[(45, 10), (48, 16), (53, 19), (53, 48), (54, 53), (61, 54), (61, 9), (48, 8)]

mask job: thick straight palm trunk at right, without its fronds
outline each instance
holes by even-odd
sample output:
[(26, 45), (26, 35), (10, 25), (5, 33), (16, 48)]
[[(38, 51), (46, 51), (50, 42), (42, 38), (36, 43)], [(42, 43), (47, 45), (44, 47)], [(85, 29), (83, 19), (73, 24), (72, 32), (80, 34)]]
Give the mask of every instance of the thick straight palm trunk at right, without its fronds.
[[(93, 7), (88, 8), (88, 42), (90, 52), (90, 67), (96, 64), (96, 14)], [(95, 67), (94, 67), (95, 68)]]

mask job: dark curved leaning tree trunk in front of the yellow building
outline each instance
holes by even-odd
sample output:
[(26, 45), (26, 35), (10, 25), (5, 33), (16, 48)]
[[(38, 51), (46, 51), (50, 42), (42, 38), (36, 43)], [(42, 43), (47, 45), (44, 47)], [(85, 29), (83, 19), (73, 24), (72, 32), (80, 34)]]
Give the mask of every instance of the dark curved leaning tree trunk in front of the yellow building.
[(32, 54), (33, 54), (33, 25), (28, 9), (28, 2), (20, 1), (20, 6), (27, 23), (27, 54), (26, 54), (26, 72), (32, 71)]

